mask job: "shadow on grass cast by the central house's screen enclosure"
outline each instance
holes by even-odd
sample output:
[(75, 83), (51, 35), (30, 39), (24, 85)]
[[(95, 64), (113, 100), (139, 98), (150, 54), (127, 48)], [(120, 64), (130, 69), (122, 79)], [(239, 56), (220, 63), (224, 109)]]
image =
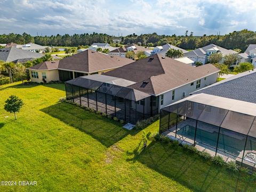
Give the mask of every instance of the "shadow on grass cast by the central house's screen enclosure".
[(41, 111), (91, 135), (106, 147), (130, 134), (130, 131), (122, 128), (122, 124), (69, 103), (57, 103)]

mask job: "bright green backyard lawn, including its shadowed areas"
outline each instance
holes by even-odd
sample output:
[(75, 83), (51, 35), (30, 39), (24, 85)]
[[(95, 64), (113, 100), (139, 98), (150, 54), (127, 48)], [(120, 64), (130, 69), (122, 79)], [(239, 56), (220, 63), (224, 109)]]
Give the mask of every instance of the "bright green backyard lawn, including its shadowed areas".
[[(152, 141), (141, 150), (141, 131), (59, 103), (62, 84), (18, 84), (0, 86), (0, 180), (37, 186), (0, 191), (255, 191), (247, 176), (183, 148)], [(11, 94), (25, 102), (16, 121), (3, 109)], [(159, 121), (146, 131), (158, 129)]]

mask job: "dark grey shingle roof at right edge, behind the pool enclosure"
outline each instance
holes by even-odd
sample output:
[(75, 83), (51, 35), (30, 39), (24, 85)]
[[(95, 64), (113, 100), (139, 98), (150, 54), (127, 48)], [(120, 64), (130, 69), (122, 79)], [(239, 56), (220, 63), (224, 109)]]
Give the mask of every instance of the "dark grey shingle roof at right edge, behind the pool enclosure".
[(246, 71), (191, 94), (206, 93), (256, 103), (256, 70)]

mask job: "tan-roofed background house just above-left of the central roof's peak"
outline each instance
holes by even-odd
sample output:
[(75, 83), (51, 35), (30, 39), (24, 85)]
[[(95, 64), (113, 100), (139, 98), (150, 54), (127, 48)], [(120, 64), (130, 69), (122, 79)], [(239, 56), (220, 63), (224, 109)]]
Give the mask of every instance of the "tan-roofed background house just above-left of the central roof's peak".
[(110, 51), (108, 54), (109, 55), (119, 55), (119, 57), (125, 57), (125, 54), (128, 51), (132, 51), (132, 52), (134, 52), (134, 54), (136, 54), (139, 51), (143, 51), (147, 56), (149, 56), (149, 53), (146, 51), (152, 51), (152, 50), (133, 43), (130, 45), (125, 45), (124, 47), (120, 47), (116, 50)]

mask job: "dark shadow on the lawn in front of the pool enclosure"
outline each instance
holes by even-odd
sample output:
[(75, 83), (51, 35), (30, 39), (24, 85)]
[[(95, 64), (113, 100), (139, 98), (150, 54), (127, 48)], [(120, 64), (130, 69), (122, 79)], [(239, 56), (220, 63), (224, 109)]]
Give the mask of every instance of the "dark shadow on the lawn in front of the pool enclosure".
[(249, 182), (248, 175), (241, 177), (239, 173), (205, 161), (180, 146), (153, 141), (141, 153), (135, 151), (134, 161), (145, 164), (193, 191), (255, 191), (255, 182)]

